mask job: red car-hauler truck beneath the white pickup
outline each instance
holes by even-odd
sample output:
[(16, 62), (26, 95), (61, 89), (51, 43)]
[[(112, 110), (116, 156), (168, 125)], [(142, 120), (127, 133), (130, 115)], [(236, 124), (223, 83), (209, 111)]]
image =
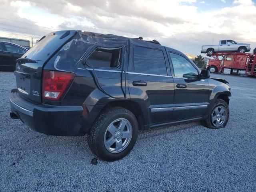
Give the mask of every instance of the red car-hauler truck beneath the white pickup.
[(236, 70), (237, 74), (256, 76), (256, 54), (222, 52), (214, 53), (213, 59), (209, 59), (206, 69), (210, 72), (224, 72), (224, 69), (230, 69), (230, 73)]

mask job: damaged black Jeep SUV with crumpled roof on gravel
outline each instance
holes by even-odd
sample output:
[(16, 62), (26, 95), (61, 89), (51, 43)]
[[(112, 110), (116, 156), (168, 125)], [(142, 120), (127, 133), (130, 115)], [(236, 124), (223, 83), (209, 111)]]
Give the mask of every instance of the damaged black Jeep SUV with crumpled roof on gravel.
[(132, 150), (138, 130), (202, 120), (226, 126), (230, 87), (156, 40), (76, 30), (44, 36), (17, 60), (12, 118), (59, 136), (84, 136), (96, 156)]

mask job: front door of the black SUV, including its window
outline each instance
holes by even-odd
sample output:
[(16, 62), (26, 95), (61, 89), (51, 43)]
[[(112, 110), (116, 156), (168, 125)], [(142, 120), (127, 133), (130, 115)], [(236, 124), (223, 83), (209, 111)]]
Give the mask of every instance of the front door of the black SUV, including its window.
[(206, 115), (209, 98), (208, 80), (198, 78), (198, 70), (184, 56), (169, 52), (174, 80), (174, 118), (198, 118)]

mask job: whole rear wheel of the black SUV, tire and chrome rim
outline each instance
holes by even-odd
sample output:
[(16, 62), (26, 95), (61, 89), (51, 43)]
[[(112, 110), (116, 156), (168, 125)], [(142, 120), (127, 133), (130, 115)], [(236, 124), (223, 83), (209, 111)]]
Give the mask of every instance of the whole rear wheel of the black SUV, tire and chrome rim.
[[(118, 128), (121, 124), (125, 124), (123, 130)], [(87, 141), (92, 152), (100, 159), (116, 161), (132, 150), (137, 137), (138, 122), (134, 114), (122, 107), (112, 107), (96, 118)]]

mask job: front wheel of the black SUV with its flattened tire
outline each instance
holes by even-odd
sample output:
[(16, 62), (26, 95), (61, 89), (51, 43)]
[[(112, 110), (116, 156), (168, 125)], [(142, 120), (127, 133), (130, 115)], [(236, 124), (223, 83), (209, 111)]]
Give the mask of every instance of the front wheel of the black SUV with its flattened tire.
[[(220, 115), (221, 118), (218, 118), (216, 111), (215, 111), (216, 108), (218, 108), (218, 111), (220, 113), (221, 113), (220, 109), (222, 109), (222, 108), (225, 109), (225, 119), (224, 120), (223, 120), (224, 113), (222, 113)], [(215, 118), (212, 118), (212, 116), (214, 116), (214, 117), (216, 116), (217, 119), (215, 120)], [(218, 125), (218, 119), (220, 119), (219, 125)], [(202, 125), (207, 128), (210, 128), (210, 129), (224, 128), (226, 126), (226, 124), (228, 123), (228, 119), (229, 119), (228, 104), (222, 99), (217, 99), (209, 116), (205, 120), (202, 120)]]

